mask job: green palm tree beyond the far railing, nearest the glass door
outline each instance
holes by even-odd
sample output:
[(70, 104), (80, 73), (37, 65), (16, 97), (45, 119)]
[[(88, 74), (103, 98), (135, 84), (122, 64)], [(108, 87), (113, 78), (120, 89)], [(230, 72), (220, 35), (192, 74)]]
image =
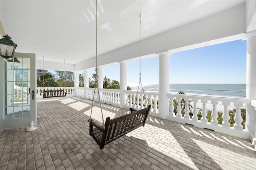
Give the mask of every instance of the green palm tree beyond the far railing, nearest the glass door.
[(42, 73), (41, 76), (36, 77), (37, 87), (58, 87), (54, 80), (54, 75), (50, 73)]

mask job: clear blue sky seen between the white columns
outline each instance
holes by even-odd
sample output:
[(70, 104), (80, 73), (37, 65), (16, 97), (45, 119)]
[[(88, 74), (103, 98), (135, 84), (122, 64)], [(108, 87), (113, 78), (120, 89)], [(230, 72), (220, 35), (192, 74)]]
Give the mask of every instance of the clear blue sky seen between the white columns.
[[(140, 69), (141, 63), (141, 69)], [(169, 56), (170, 83), (185, 84), (245, 84), (246, 41), (236, 40), (186, 51)], [(158, 84), (158, 56), (127, 63), (127, 84)], [(103, 77), (120, 82), (120, 65), (103, 68)], [(83, 71), (81, 72), (83, 73)], [(89, 71), (89, 77), (95, 69)]]

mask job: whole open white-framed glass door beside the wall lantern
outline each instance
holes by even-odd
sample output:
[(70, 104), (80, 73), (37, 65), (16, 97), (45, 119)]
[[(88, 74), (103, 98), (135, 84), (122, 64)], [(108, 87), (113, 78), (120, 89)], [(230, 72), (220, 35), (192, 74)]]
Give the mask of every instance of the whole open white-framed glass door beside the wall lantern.
[(4, 60), (1, 127), (36, 125), (36, 54), (15, 53)]

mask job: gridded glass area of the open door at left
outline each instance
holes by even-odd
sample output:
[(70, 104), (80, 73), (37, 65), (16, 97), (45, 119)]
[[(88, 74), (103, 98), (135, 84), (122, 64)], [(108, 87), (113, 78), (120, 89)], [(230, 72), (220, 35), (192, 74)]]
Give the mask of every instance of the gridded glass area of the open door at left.
[(4, 62), (4, 119), (30, 117), (30, 58), (13, 59)]

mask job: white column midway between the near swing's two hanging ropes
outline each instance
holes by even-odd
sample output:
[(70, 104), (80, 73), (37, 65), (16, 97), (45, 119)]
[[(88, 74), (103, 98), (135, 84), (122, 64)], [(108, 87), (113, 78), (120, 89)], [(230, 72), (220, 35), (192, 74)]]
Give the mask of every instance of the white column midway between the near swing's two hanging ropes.
[(120, 108), (124, 108), (127, 95), (124, 92), (127, 90), (127, 63), (120, 62)]

